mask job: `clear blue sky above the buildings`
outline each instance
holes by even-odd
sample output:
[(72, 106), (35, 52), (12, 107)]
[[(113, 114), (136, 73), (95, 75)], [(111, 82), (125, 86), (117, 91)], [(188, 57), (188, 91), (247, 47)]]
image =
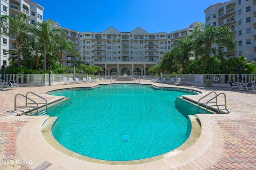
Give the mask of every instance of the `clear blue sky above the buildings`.
[(205, 22), (204, 10), (220, 0), (32, 0), (44, 8), (44, 20), (79, 32), (173, 32)]

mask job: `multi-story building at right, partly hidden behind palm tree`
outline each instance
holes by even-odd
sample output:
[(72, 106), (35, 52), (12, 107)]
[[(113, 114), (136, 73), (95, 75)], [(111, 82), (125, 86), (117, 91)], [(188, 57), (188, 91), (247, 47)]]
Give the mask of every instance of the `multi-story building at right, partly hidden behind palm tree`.
[(230, 0), (214, 4), (204, 10), (207, 26), (227, 26), (234, 32), (237, 42), (236, 51), (214, 45), (222, 51), (224, 57), (247, 57), (256, 61), (256, 2), (255, 0)]

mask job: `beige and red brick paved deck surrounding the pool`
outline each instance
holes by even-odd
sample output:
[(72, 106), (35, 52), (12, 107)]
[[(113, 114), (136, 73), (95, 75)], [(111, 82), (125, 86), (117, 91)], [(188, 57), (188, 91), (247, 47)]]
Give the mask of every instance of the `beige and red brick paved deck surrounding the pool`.
[[(2, 169), (84, 169), (84, 170), (204, 170), (204, 169), (256, 169), (256, 91), (230, 90), (227, 87), (196, 87), (167, 85), (159, 87), (195, 89), (202, 94), (189, 96), (198, 101), (211, 91), (225, 93), (228, 114), (197, 114), (202, 125), (200, 138), (183, 152), (143, 164), (110, 165), (86, 162), (62, 154), (48, 144), (41, 135), (41, 126), (48, 116), (15, 116), (14, 96), (28, 91), (47, 99), (48, 103), (62, 97), (44, 94), (47, 91), (71, 87), (91, 87), (97, 83), (54, 85), (46, 87), (20, 87), (0, 91), (0, 170)], [(121, 83), (125, 83), (122, 81)], [(128, 82), (127, 82), (128, 83)], [(133, 82), (129, 82), (133, 83)], [(150, 84), (150, 81), (140, 81)], [(228, 85), (227, 85), (228, 86)], [(33, 97), (32, 97), (33, 98)], [(17, 104), (22, 105), (18, 98)], [(218, 102), (224, 102), (218, 99)]]

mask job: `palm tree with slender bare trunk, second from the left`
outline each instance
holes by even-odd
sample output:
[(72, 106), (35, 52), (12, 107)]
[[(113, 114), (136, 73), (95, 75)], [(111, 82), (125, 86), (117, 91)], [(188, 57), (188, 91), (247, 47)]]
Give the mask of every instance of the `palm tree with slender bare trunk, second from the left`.
[(56, 45), (56, 40), (60, 39), (61, 34), (64, 35), (65, 31), (60, 27), (54, 27), (54, 22), (52, 20), (45, 20), (40, 23), (35, 24), (34, 30), (35, 36), (38, 38), (38, 41), (43, 44), (44, 47), (44, 63), (43, 70), (46, 70), (46, 54), (47, 48)]

